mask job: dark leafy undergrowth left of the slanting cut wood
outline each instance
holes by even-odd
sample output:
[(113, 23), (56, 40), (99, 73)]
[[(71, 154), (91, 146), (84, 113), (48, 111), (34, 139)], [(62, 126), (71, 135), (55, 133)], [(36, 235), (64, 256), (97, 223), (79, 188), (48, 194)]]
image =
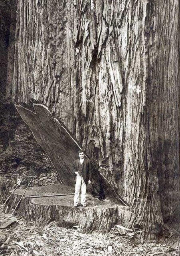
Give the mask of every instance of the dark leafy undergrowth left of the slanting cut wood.
[(22, 120), (18, 120), (15, 129), (12, 124), (8, 124), (8, 126), (12, 139), (8, 142), (7, 147), (0, 145), (0, 203), (7, 196), (7, 190), (15, 187), (18, 178), (21, 180), (21, 186), (24, 187), (32, 178), (30, 186), (42, 186), (44, 183), (57, 182), (49, 158), (36, 142), (26, 124)]

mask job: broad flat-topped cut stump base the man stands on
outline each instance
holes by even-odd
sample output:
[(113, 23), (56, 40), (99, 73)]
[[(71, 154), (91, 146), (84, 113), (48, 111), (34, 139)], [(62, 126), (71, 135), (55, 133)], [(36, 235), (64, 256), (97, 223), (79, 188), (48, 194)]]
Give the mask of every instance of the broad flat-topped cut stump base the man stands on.
[[(18, 189), (6, 203), (5, 211), (12, 211), (22, 196), (24, 190)], [(73, 193), (74, 189), (63, 184), (28, 188), (25, 197), (48, 194)], [(17, 208), (17, 214), (24, 216), (27, 221), (34, 220), (37, 226), (45, 226), (51, 221), (57, 221), (58, 226), (72, 228), (79, 226), (80, 232), (93, 231), (104, 234), (115, 224), (126, 226), (130, 214), (127, 206), (114, 203), (109, 199), (99, 200), (87, 194), (87, 207), (74, 208), (73, 195), (50, 196), (41, 198), (22, 198)]]

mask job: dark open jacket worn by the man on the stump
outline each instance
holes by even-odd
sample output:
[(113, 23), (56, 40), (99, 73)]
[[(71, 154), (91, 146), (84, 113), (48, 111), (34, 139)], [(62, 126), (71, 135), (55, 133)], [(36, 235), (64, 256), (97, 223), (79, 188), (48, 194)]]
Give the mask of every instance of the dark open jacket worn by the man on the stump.
[[(79, 164), (81, 164), (79, 159), (74, 161), (74, 163), (73, 163), (73, 172), (74, 173), (77, 172)], [(84, 182), (86, 185), (88, 183), (88, 180), (92, 179), (92, 164), (91, 164), (91, 161), (87, 158), (84, 158), (82, 176), (83, 176), (83, 179), (84, 179)]]

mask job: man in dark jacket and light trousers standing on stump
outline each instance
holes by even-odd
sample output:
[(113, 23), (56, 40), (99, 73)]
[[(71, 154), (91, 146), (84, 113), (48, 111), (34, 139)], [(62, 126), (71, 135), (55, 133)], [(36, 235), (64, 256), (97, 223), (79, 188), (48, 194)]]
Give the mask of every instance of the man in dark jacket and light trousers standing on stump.
[(86, 207), (86, 187), (91, 183), (92, 169), (91, 162), (85, 158), (83, 150), (78, 151), (79, 159), (74, 161), (73, 172), (76, 174), (76, 184), (74, 193), (74, 207), (79, 203), (79, 192), (81, 189), (81, 204)]

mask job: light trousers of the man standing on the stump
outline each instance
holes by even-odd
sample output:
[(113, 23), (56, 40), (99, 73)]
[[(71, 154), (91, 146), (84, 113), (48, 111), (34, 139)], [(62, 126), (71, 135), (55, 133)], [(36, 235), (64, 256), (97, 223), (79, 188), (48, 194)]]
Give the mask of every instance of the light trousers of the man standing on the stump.
[(81, 189), (81, 204), (85, 205), (86, 203), (86, 184), (82, 176), (76, 176), (75, 184), (75, 193), (74, 193), (74, 205), (79, 203), (79, 192)]

